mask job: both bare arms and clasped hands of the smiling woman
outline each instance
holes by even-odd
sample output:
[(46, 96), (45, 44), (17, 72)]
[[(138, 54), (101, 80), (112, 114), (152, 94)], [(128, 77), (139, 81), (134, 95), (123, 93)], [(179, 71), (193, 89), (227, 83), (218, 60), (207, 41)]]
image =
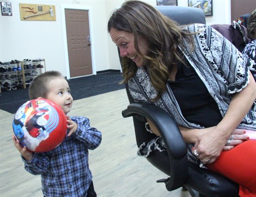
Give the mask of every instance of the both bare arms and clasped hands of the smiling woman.
[[(238, 145), (247, 139), (247, 135), (236, 128), (256, 98), (256, 84), (251, 73), (249, 75), (250, 82), (241, 92), (235, 93), (226, 115), (218, 125), (204, 129), (189, 129), (179, 126), (185, 142), (195, 143), (197, 152), (201, 154), (199, 159), (203, 162), (206, 162), (207, 159), (211, 159), (211, 163), (214, 162), (222, 150), (231, 149), (234, 145)], [(148, 120), (148, 123), (153, 133), (161, 136), (150, 120)], [(231, 134), (234, 134), (234, 140), (230, 144), (231, 146), (225, 147)]]

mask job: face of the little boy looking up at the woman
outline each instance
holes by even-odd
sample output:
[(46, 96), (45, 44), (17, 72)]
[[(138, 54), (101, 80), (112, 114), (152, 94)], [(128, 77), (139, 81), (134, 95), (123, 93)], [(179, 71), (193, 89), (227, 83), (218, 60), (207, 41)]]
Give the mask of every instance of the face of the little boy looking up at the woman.
[(48, 95), (46, 99), (49, 99), (58, 104), (65, 114), (69, 113), (72, 107), (73, 98), (70, 94), (68, 82), (61, 78), (54, 78), (48, 83)]

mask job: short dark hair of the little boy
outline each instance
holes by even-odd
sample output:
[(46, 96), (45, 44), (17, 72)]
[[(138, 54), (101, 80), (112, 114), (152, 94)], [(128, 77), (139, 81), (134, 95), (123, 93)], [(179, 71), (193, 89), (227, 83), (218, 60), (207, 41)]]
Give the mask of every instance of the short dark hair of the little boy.
[[(54, 78), (64, 78), (58, 71), (47, 71), (34, 78), (29, 85), (29, 99), (36, 99), (38, 97), (46, 98), (49, 93), (48, 83)], [(64, 78), (65, 79), (65, 78)]]

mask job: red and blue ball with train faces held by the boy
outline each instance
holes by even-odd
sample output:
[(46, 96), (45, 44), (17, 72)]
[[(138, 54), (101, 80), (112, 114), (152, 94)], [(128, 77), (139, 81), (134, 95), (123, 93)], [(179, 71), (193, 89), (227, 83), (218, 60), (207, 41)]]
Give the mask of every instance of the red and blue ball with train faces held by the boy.
[(12, 121), (15, 138), (33, 152), (46, 152), (62, 143), (67, 133), (67, 118), (60, 106), (38, 98), (18, 108)]

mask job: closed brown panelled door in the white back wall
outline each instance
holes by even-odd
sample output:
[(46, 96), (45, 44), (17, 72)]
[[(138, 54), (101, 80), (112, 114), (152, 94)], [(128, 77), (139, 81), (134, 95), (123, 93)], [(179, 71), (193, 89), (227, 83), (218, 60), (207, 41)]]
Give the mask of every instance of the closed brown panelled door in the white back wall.
[(88, 10), (65, 9), (70, 77), (92, 74)]

